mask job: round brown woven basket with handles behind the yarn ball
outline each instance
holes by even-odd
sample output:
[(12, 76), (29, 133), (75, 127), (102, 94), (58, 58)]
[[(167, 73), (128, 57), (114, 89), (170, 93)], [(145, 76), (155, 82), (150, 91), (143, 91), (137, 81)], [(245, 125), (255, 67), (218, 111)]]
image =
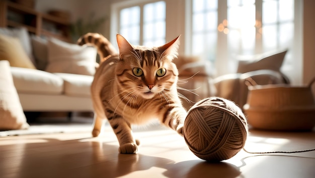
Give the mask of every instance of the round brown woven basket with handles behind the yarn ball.
[(244, 110), (255, 129), (306, 131), (315, 126), (315, 101), (311, 85), (257, 85), (247, 80), (249, 94)]

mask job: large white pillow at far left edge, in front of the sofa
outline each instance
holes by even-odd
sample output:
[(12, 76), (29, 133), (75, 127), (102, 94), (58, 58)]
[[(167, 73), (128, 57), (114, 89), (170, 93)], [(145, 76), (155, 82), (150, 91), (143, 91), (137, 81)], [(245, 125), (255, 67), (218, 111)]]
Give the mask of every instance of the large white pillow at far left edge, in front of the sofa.
[(0, 61), (0, 130), (27, 129), (25, 115), (13, 83), (10, 64)]

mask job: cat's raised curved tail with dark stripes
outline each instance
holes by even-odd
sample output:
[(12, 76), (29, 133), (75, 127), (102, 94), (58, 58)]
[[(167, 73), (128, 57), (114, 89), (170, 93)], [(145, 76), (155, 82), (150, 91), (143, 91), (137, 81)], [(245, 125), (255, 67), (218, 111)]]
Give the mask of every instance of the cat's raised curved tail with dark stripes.
[(108, 56), (118, 54), (111, 42), (108, 41), (103, 35), (98, 33), (87, 33), (81, 36), (77, 42), (78, 45), (92, 45), (97, 48), (100, 55), (101, 62)]

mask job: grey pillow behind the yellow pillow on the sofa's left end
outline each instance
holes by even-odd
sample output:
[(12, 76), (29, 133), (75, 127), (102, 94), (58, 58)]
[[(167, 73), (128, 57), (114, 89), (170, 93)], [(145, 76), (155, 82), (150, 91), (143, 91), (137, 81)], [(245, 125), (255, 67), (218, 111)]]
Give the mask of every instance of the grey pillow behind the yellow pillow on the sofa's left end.
[(32, 53), (31, 39), (26, 28), (0, 28), (0, 34), (18, 38), (27, 56), (35, 65), (35, 60)]

